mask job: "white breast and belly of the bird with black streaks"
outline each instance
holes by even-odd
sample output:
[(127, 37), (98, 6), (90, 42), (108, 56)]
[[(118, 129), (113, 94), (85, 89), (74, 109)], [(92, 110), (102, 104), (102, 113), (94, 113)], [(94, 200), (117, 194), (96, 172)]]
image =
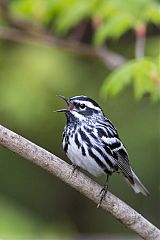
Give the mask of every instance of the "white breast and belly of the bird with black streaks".
[[(82, 124), (75, 127), (74, 134), (70, 134), (68, 131), (73, 131), (73, 129), (65, 128), (63, 148), (73, 164), (94, 176), (104, 172), (111, 174), (117, 170), (116, 155), (106, 144), (106, 141), (109, 144), (113, 143), (114, 139), (111, 141), (111, 138), (106, 138), (106, 131), (101, 125), (98, 124), (96, 127)], [(119, 147), (119, 143), (117, 143), (117, 147)]]

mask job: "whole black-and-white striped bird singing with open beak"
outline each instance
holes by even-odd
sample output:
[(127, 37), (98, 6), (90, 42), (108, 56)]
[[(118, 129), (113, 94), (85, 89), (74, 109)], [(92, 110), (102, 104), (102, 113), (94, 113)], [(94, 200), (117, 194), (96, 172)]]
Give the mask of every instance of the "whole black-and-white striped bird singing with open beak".
[(87, 96), (67, 98), (58, 95), (67, 108), (56, 110), (66, 115), (62, 146), (75, 169), (84, 169), (93, 176), (106, 175), (100, 192), (101, 205), (108, 191), (112, 173), (120, 173), (135, 193), (150, 193), (133, 171), (127, 150), (113, 123), (93, 99)]

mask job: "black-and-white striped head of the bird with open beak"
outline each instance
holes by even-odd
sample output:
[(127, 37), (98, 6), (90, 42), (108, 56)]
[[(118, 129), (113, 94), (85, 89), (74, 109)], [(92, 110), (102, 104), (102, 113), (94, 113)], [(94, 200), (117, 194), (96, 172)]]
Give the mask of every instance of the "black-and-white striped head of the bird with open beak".
[(58, 97), (62, 98), (68, 107), (66, 109), (56, 110), (56, 112), (64, 112), (68, 119), (75, 118), (82, 121), (86, 118), (104, 116), (100, 106), (87, 96), (76, 96), (72, 98), (66, 98), (64, 96)]

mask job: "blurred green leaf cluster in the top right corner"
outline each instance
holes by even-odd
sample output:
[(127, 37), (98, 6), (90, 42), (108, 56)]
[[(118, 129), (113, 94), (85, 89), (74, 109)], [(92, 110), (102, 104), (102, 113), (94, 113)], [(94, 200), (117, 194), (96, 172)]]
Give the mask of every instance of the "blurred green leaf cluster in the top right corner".
[(104, 0), (99, 6), (95, 16), (102, 24), (95, 33), (96, 45), (110, 37), (119, 38), (143, 23), (160, 26), (160, 5), (156, 0)]

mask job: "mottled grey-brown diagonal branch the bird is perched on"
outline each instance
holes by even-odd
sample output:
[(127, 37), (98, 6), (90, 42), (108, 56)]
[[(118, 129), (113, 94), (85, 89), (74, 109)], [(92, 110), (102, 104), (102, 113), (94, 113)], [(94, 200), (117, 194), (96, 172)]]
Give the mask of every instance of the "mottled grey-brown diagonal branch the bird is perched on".
[[(96, 204), (99, 203), (100, 185), (81, 172), (72, 174), (71, 165), (2, 125), (0, 144), (59, 177)], [(101, 207), (142, 238), (160, 240), (158, 228), (110, 192), (107, 193)]]

